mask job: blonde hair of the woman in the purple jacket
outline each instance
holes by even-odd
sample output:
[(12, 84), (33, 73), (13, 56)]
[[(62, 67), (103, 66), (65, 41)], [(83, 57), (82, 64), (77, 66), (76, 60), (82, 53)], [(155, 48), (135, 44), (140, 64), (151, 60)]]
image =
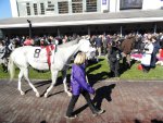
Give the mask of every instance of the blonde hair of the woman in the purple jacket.
[(83, 64), (86, 61), (86, 53), (84, 52), (78, 52), (77, 56), (75, 57), (74, 63), (75, 64)]

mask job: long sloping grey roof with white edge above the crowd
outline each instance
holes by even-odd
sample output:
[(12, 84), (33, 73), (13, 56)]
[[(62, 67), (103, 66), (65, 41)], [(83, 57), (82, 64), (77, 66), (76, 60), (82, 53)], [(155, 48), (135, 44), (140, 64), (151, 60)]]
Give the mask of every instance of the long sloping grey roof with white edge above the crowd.
[(0, 28), (28, 27), (27, 20), (32, 21), (33, 27), (163, 22), (163, 10), (128, 10), (108, 13), (79, 13), (71, 15), (64, 14), (53, 16), (11, 17), (0, 20)]

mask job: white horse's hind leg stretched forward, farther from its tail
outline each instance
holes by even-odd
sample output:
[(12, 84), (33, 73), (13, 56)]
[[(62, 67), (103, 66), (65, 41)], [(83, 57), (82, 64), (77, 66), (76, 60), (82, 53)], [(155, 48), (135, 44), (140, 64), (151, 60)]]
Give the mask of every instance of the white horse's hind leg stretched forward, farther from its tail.
[(36, 93), (36, 97), (40, 97), (39, 93), (37, 91), (37, 89), (35, 88), (35, 86), (32, 84), (32, 82), (29, 81), (28, 77), (28, 69), (24, 69), (24, 77), (25, 79), (28, 82), (29, 86), (33, 88), (33, 90)]

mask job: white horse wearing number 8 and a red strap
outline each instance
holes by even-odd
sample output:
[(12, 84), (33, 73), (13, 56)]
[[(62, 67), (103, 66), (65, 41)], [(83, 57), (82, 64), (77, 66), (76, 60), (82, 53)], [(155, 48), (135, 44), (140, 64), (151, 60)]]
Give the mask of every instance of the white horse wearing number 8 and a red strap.
[(66, 85), (66, 70), (67, 70), (67, 63), (70, 62), (73, 54), (75, 54), (77, 51), (83, 52), (89, 52), (91, 49), (91, 45), (89, 40), (80, 39), (78, 44), (67, 46), (65, 47), (58, 47), (57, 51), (51, 51), (51, 65), (49, 67), (47, 63), (47, 51), (45, 49), (41, 49), (40, 47), (32, 47), (32, 46), (25, 46), (16, 48), (10, 56), (9, 60), (9, 71), (10, 71), (10, 78), (14, 77), (14, 65), (16, 65), (20, 69), (18, 74), (18, 86), (17, 89), (20, 90), (21, 95), (25, 95), (25, 93), (21, 88), (21, 79), (24, 76), (25, 79), (28, 82), (29, 86), (33, 88), (33, 90), (36, 93), (37, 97), (40, 97), (38, 90), (36, 87), (32, 84), (29, 77), (28, 77), (28, 66), (30, 65), (34, 69), (37, 70), (49, 70), (51, 71), (51, 78), (52, 83), (50, 87), (46, 90), (45, 97), (48, 97), (49, 91), (53, 88), (58, 73), (59, 71), (62, 71), (62, 77), (63, 77), (63, 84), (64, 84), (64, 90), (67, 93), (68, 96), (72, 94), (67, 90)]

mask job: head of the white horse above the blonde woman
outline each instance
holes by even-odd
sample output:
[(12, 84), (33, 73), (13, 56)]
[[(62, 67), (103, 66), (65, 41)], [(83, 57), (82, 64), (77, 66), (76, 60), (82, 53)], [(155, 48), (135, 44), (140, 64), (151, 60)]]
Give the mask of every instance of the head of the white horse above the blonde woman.
[(91, 58), (91, 54), (95, 50), (92, 50), (93, 48), (91, 47), (90, 41), (87, 39), (80, 39), (79, 44), (80, 44), (79, 50), (85, 52), (87, 58)]

